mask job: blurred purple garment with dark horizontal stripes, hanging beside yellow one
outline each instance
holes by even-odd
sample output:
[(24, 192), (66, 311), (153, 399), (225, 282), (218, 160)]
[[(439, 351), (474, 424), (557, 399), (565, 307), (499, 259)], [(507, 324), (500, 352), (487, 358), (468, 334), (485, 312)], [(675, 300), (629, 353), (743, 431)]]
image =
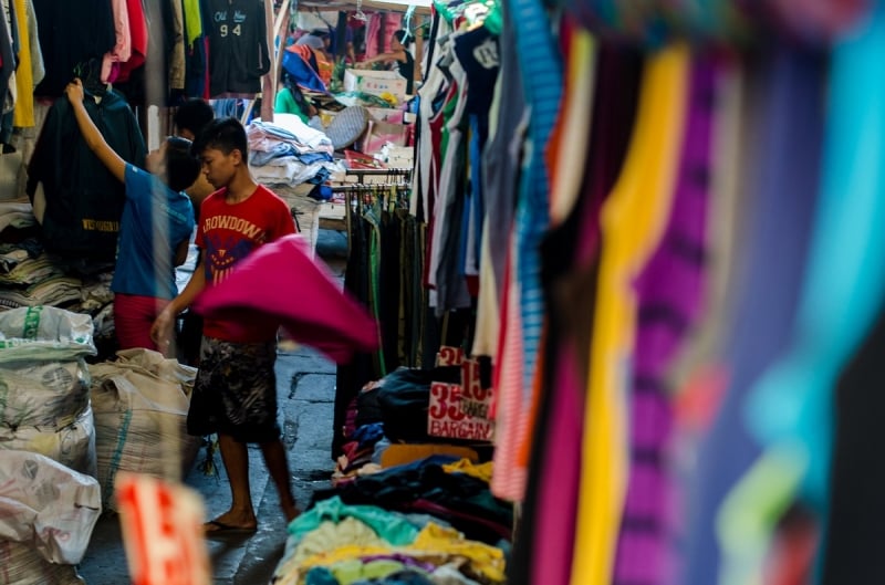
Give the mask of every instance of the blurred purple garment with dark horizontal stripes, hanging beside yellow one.
[(631, 396), (631, 466), (618, 537), (616, 585), (662, 583), (671, 573), (667, 446), (673, 408), (664, 376), (698, 316), (711, 177), (716, 69), (697, 58), (673, 210), (660, 246), (635, 283), (638, 330)]

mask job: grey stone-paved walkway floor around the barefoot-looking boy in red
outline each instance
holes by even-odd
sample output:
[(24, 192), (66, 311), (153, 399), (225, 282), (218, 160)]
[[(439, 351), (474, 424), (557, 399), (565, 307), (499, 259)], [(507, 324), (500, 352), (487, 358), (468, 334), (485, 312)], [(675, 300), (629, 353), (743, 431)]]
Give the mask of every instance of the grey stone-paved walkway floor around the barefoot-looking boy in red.
[[(342, 232), (321, 230), (319, 255), (343, 280), (346, 239)], [(293, 299), (296, 293), (293, 292)], [(277, 361), (278, 394), (283, 441), (289, 450), (295, 498), (303, 510), (316, 489), (329, 487), (334, 469), (330, 458), (332, 416), (335, 399), (335, 365), (306, 347), (280, 349)], [(252, 500), (258, 515), (258, 532), (250, 536), (226, 536), (208, 541), (214, 583), (219, 585), (261, 585), (270, 582), (285, 545), (285, 521), (270, 481), (261, 451), (250, 446)], [(197, 456), (185, 483), (204, 498), (207, 519), (227, 510), (230, 490), (220, 453), (215, 453), (218, 477), (199, 470), (206, 451)], [(88, 585), (129, 583), (118, 520), (102, 516), (92, 534), (90, 547), (79, 566)]]

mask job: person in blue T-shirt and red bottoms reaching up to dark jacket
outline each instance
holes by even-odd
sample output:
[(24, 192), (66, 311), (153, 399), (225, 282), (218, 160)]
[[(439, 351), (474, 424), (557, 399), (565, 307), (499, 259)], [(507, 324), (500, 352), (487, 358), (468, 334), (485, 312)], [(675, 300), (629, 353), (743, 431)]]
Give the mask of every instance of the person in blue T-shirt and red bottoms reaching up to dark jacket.
[(171, 354), (150, 338), (154, 320), (178, 294), (175, 267), (187, 259), (194, 232), (194, 207), (184, 190), (199, 175), (190, 140), (170, 136), (148, 153), (146, 169), (126, 163), (107, 145), (90, 118), (84, 100), (92, 100), (76, 79), (64, 90), (80, 132), (107, 170), (123, 181), (126, 201), (119, 223), (117, 257), (111, 290), (114, 328), (121, 349), (146, 347)]

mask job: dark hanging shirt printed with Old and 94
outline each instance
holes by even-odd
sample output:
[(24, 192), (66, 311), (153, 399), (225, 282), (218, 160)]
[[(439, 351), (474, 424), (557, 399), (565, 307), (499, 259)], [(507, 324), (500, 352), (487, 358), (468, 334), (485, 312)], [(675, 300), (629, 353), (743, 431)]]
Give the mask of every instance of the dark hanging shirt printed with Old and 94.
[(256, 94), (270, 71), (264, 0), (207, 0), (209, 95)]

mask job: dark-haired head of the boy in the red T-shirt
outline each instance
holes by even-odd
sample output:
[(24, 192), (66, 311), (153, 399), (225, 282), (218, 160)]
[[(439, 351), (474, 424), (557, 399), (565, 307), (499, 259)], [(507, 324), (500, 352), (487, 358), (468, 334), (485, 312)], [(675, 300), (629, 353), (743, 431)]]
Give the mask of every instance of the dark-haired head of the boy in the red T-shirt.
[(249, 173), (246, 128), (237, 118), (216, 118), (194, 140), (191, 153), (201, 165), (206, 180), (220, 189), (239, 173)]

